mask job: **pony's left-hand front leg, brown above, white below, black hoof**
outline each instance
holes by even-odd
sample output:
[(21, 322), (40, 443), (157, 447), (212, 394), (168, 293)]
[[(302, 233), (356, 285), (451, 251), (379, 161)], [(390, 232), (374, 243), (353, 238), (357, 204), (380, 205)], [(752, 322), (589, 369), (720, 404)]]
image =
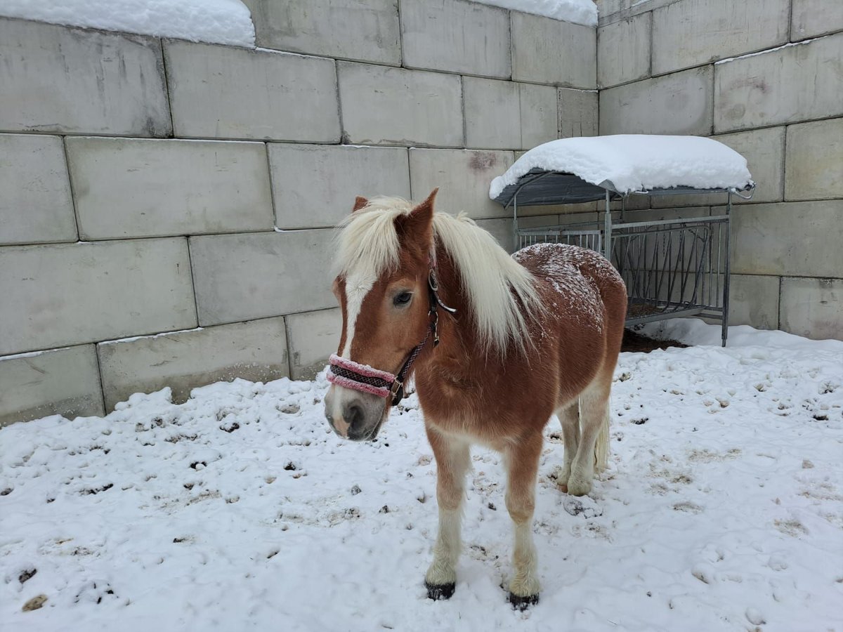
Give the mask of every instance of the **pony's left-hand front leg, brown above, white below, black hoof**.
[(461, 549), (465, 471), (471, 463), (469, 444), (443, 436), (427, 426), (427, 439), (436, 457), (436, 500), (439, 505), (439, 533), (433, 547), (433, 561), (427, 569), (427, 597), (449, 599), (456, 589), (457, 560)]

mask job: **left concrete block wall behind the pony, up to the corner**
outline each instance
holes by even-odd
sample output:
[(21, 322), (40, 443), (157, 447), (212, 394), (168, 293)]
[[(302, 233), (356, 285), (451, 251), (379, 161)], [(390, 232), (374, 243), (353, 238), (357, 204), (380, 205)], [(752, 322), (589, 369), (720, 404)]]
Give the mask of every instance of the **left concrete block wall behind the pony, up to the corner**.
[(0, 19), (0, 425), (312, 378), (355, 195), (438, 186), (508, 248), (491, 178), (597, 133), (596, 29), (465, 0), (245, 2), (256, 50)]

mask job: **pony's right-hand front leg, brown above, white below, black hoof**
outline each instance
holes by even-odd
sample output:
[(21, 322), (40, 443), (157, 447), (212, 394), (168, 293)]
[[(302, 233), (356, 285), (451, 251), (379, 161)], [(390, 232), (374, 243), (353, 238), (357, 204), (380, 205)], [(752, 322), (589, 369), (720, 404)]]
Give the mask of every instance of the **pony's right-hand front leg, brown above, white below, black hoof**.
[(514, 574), (509, 582), (509, 602), (521, 610), (538, 603), (541, 590), (533, 544), (533, 511), (542, 438), (541, 433), (536, 432), (510, 447), (506, 454), (507, 511), (515, 527)]

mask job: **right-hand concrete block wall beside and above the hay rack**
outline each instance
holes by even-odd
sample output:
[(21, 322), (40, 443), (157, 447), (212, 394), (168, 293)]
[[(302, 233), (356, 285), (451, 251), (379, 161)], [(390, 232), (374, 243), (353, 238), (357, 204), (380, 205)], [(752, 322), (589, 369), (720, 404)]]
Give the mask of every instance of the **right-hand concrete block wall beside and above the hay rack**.
[[(598, 0), (599, 131), (710, 136), (758, 182), (732, 222), (732, 324), (843, 339), (843, 10)], [(697, 196), (653, 198), (696, 206)]]

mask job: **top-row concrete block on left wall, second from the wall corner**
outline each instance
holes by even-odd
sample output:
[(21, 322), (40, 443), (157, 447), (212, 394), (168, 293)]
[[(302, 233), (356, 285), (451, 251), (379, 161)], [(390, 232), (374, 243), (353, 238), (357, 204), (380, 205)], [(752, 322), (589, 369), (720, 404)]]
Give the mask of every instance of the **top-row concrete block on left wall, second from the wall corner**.
[(404, 66), (509, 78), (509, 12), (462, 0), (401, 2)]

